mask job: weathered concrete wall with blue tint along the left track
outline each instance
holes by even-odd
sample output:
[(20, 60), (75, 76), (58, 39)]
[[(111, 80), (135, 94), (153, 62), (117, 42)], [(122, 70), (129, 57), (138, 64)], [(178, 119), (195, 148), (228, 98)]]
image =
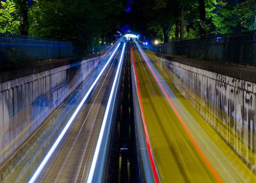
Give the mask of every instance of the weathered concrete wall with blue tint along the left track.
[(0, 83), (0, 163), (86, 79), (101, 58)]

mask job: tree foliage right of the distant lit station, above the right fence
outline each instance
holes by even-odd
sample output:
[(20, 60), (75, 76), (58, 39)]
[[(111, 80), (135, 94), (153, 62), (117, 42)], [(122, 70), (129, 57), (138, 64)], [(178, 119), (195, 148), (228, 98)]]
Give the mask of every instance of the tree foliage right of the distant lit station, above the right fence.
[[(160, 37), (164, 42), (255, 29), (256, 1), (230, 2), (233, 1), (136, 0), (133, 8), (143, 22), (144, 28), (139, 29), (147, 29), (149, 38)], [(134, 20), (135, 26), (140, 24), (140, 20)], [(165, 36), (163, 24), (170, 28)]]

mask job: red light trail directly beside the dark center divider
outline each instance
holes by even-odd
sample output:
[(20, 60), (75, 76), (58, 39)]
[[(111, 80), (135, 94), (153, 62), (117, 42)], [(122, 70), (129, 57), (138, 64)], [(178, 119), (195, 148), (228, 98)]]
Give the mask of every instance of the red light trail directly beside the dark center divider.
[(155, 180), (155, 182), (159, 182), (157, 169), (156, 169), (156, 163), (154, 161), (153, 153), (152, 153), (152, 150), (151, 150), (151, 147), (150, 147), (150, 141), (149, 141), (149, 137), (148, 137), (148, 131), (147, 131), (147, 125), (146, 125), (146, 120), (145, 120), (145, 115), (144, 115), (144, 109), (143, 109), (141, 94), (140, 94), (140, 85), (139, 85), (136, 65), (135, 65), (135, 61), (134, 61), (134, 54), (133, 54), (132, 49), (131, 49), (131, 52), (132, 52), (132, 65), (133, 65), (135, 79), (136, 79), (136, 88), (137, 88), (137, 91), (138, 91), (138, 98), (140, 100), (139, 103), (140, 103), (141, 117), (142, 117), (142, 121), (143, 121), (143, 128), (144, 128), (144, 132), (145, 132), (145, 136), (146, 136), (146, 142), (147, 142), (147, 151), (148, 151), (150, 164), (151, 164), (153, 175), (154, 175), (154, 180)]

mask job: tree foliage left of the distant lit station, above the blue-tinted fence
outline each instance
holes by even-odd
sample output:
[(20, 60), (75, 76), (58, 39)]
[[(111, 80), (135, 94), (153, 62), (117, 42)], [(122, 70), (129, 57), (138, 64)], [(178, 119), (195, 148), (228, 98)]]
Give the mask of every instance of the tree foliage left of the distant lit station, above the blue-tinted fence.
[(82, 50), (113, 35), (123, 10), (118, 0), (38, 0), (32, 6), (28, 0), (6, 0), (1, 4), (2, 33), (71, 40)]

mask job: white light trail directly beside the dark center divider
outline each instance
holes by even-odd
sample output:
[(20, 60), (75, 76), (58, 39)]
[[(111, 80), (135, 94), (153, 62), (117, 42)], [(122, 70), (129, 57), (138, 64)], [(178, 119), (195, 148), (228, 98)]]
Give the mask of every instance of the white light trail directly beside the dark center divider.
[[(111, 106), (111, 103), (112, 103), (112, 100), (113, 100), (113, 94), (114, 94), (114, 92), (115, 92), (115, 90), (118, 86), (118, 76), (120, 75), (120, 72), (121, 72), (121, 66), (122, 66), (123, 58), (124, 58), (124, 49), (125, 49), (125, 43), (124, 43), (124, 46), (123, 46), (123, 49), (122, 49), (122, 53), (121, 53), (120, 60), (119, 60), (119, 63), (118, 63), (118, 67), (117, 67), (117, 70), (116, 70), (115, 79), (113, 81), (113, 85), (112, 85), (111, 92), (110, 92), (109, 99), (108, 99), (108, 104), (107, 104), (106, 111), (104, 113), (104, 118), (103, 118), (103, 121), (102, 121), (102, 125), (101, 125), (101, 128), (100, 128), (99, 138), (98, 138), (98, 141), (97, 141), (97, 145), (96, 145), (95, 152), (94, 152), (94, 155), (93, 155), (92, 165), (91, 165), (89, 175), (88, 175), (88, 179), (87, 179), (88, 183), (93, 181), (93, 175), (94, 175), (94, 172), (95, 172), (97, 159), (99, 157), (99, 151), (100, 151), (100, 147), (101, 147), (101, 144), (102, 144), (102, 138), (103, 138), (103, 134), (105, 132), (105, 127), (106, 127), (106, 123), (107, 123), (108, 116), (109, 116), (109, 109), (110, 109), (110, 106)], [(102, 166), (102, 165), (100, 165), (100, 166)]]

